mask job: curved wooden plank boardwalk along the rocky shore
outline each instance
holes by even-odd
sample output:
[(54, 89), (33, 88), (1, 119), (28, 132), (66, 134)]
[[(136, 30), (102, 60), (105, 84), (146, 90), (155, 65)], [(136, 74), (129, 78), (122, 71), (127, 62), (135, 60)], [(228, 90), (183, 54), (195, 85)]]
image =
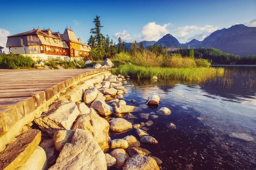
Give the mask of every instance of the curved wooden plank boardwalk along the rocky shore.
[(110, 69), (0, 70), (0, 136), (83, 77)]

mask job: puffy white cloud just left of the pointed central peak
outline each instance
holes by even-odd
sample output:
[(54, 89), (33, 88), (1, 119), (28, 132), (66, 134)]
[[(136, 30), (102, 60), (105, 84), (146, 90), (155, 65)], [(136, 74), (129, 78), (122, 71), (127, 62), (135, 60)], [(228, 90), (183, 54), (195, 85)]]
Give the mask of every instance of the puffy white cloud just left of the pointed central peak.
[(162, 38), (164, 35), (169, 34), (170, 31), (167, 27), (172, 26), (171, 23), (164, 24), (160, 26), (155, 22), (148, 23), (141, 28), (141, 39), (147, 41), (157, 41)]

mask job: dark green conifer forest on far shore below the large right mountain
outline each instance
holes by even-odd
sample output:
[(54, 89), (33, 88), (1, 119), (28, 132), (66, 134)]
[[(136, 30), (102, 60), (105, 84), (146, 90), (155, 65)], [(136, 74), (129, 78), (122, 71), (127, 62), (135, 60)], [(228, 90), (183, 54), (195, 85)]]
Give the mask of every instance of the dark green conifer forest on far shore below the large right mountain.
[(194, 51), (194, 56), (197, 59), (208, 59), (212, 63), (217, 64), (230, 64), (231, 62), (236, 62), (240, 57), (239, 55), (224, 53), (221, 50), (216, 48), (195, 48), (195, 49), (186, 49), (181, 48), (177, 52), (182, 56), (192, 56), (192, 52)]

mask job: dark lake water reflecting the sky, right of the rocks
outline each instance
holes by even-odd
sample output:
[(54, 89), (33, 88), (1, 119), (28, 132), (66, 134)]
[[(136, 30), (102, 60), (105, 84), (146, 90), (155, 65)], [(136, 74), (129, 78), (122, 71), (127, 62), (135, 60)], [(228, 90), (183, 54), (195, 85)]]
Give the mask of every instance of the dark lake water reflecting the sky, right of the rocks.
[[(218, 67), (218, 66), (212, 66)], [(140, 147), (163, 161), (163, 170), (255, 170), (256, 144), (231, 139), (230, 133), (246, 133), (256, 139), (256, 66), (222, 66), (225, 73), (201, 84), (172, 80), (130, 80), (127, 105), (141, 106), (140, 113), (155, 112), (157, 119), (149, 126), (148, 133), (158, 144), (142, 143)], [(143, 101), (157, 93), (160, 105), (151, 110)], [(131, 99), (137, 102), (132, 104)], [(167, 107), (170, 115), (156, 111)], [(139, 113), (134, 123), (147, 122)], [(173, 123), (177, 129), (168, 129)], [(111, 139), (133, 135), (135, 130), (124, 134), (111, 134)], [(192, 165), (192, 166), (191, 166)], [(111, 170), (114, 170), (112, 167)]]

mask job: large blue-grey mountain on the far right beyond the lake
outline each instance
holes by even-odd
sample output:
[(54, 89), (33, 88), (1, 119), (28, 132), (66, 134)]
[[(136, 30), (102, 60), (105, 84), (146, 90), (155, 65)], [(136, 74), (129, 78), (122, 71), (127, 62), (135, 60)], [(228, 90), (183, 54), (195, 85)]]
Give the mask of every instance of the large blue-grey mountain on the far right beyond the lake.
[(221, 51), (248, 56), (256, 54), (256, 27), (242, 24), (217, 30), (203, 41), (194, 44), (195, 47), (213, 47)]

